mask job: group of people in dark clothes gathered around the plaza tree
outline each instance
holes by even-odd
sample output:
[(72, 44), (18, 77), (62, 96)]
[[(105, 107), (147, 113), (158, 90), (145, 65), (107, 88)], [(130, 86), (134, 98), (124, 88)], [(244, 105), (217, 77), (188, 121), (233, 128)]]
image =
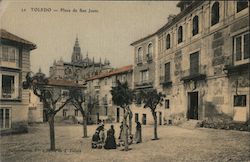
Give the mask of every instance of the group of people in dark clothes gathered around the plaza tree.
[[(121, 123), (120, 126), (120, 133), (118, 140), (119, 143), (117, 144), (115, 138), (114, 125), (110, 126), (110, 129), (107, 131), (107, 137), (105, 138), (105, 128), (104, 124), (102, 123), (100, 126), (96, 128), (96, 131), (92, 136), (92, 148), (116, 149), (117, 146), (124, 145), (125, 132), (123, 132), (123, 122)], [(141, 123), (136, 122), (135, 143), (141, 143), (141, 142), (142, 142)], [(128, 144), (132, 143), (133, 143), (133, 135), (129, 135)]]

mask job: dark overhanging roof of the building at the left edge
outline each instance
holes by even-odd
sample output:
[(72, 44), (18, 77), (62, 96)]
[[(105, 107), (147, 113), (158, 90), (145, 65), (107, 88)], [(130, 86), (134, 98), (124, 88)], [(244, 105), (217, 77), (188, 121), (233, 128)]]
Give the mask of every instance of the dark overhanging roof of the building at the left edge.
[(1, 39), (10, 40), (10, 41), (14, 41), (14, 42), (26, 45), (30, 48), (30, 50), (36, 49), (36, 45), (34, 43), (32, 43), (28, 40), (25, 40), (17, 35), (14, 35), (8, 31), (6, 31), (5, 29), (0, 30), (0, 37), (1, 37)]

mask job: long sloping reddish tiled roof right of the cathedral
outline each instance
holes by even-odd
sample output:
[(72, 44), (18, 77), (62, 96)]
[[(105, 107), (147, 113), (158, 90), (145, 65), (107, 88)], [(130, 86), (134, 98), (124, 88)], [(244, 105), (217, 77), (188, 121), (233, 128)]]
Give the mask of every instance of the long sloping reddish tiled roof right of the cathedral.
[(132, 69), (133, 69), (133, 65), (123, 66), (123, 67), (115, 69), (113, 71), (102, 73), (102, 74), (90, 77), (90, 78), (86, 79), (86, 81), (101, 79), (101, 78), (109, 77), (109, 76), (112, 76), (112, 75), (117, 75), (117, 74), (129, 72), (129, 71), (132, 71)]

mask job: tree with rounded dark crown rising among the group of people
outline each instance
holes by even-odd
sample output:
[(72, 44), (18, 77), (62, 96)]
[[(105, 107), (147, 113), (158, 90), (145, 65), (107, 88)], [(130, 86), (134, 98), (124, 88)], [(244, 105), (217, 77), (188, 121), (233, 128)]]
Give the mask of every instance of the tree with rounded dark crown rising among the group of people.
[(128, 83), (121, 83), (117, 81), (117, 85), (111, 89), (112, 101), (115, 105), (121, 107), (124, 110), (123, 115), (123, 132), (125, 132), (125, 147), (124, 150), (128, 151), (128, 129), (127, 129), (127, 117), (131, 113), (129, 105), (133, 102), (133, 91), (129, 89)]

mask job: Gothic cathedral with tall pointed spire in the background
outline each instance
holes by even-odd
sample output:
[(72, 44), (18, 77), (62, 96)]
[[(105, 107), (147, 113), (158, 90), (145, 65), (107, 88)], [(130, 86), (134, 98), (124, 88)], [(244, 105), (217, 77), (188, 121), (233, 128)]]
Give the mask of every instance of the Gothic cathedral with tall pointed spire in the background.
[(101, 59), (99, 62), (96, 62), (94, 58), (90, 59), (88, 53), (86, 53), (86, 57), (84, 58), (78, 38), (76, 38), (71, 62), (64, 62), (62, 58), (58, 61), (54, 61), (50, 67), (49, 75), (50, 78), (53, 79), (75, 80), (79, 83), (83, 83), (86, 78), (98, 75), (100, 72), (110, 69), (112, 69), (112, 67), (106, 58), (103, 63)]

